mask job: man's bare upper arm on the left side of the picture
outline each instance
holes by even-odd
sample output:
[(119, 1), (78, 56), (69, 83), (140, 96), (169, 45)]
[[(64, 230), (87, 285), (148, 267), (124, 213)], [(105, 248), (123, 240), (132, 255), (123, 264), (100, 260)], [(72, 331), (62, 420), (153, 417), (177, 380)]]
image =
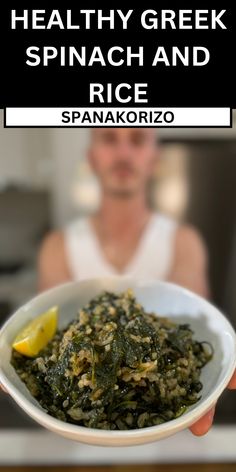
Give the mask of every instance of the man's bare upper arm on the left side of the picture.
[(38, 256), (38, 289), (47, 290), (71, 280), (63, 234), (55, 231), (42, 243)]

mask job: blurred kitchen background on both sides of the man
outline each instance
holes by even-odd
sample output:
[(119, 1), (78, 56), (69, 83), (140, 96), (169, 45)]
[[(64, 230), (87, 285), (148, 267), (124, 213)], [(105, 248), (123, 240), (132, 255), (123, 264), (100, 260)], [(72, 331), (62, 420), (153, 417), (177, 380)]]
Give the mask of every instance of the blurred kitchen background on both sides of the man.
[[(166, 129), (158, 136), (161, 163), (150, 203), (201, 231), (212, 300), (236, 328), (236, 128)], [(88, 139), (88, 129), (4, 129), (0, 111), (0, 324), (35, 294), (36, 256), (47, 231), (99, 204), (85, 157)], [(222, 396), (216, 425), (236, 432), (233, 393)], [(40, 433), (0, 393), (0, 436), (14, 439), (18, 430)]]

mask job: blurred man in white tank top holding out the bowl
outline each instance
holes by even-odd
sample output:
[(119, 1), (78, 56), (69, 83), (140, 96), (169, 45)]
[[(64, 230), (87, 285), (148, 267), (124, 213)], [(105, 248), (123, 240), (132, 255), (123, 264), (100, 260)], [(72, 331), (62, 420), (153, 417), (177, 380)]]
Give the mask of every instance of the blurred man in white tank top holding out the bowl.
[[(39, 255), (39, 288), (114, 273), (168, 279), (209, 294), (207, 254), (197, 231), (154, 214), (146, 188), (158, 158), (153, 129), (95, 129), (88, 158), (102, 189), (101, 207), (89, 219), (51, 233)], [(236, 375), (229, 384), (236, 388)], [(214, 410), (191, 426), (211, 427)]]

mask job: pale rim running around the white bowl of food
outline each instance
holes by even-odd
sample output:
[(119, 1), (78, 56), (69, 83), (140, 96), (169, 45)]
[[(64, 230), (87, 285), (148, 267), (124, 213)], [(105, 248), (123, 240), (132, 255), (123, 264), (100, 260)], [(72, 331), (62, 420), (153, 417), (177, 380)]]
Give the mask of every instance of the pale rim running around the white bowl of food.
[[(220, 318), (224, 324), (225, 328), (227, 331), (229, 331), (230, 336), (232, 340), (234, 341), (233, 343), (233, 349), (232, 349), (232, 355), (230, 357), (230, 362), (225, 369), (225, 373), (223, 375), (223, 378), (221, 381), (216, 384), (216, 387), (212, 391), (210, 395), (208, 395), (204, 400), (200, 401), (199, 403), (196, 403), (196, 406), (192, 410), (187, 411), (184, 413), (184, 415), (180, 416), (179, 418), (175, 418), (171, 421), (167, 421), (165, 423), (162, 423), (160, 425), (155, 425), (155, 426), (149, 426), (146, 428), (140, 428), (140, 429), (132, 429), (132, 430), (102, 430), (98, 428), (88, 428), (85, 426), (79, 426), (79, 425), (74, 425), (71, 423), (64, 422), (62, 420), (59, 420), (57, 418), (52, 417), (49, 415), (46, 411), (44, 411), (40, 406), (37, 406), (36, 404), (32, 403), (17, 387), (14, 386), (14, 384), (11, 382), (11, 380), (5, 375), (3, 372), (3, 369), (0, 365), (0, 382), (3, 385), (3, 387), (6, 388), (7, 392), (9, 395), (18, 403), (18, 405), (27, 413), (30, 415), (35, 421), (40, 423), (42, 426), (49, 428), (59, 434), (67, 434), (73, 435), (74, 437), (78, 436), (79, 440), (82, 441), (84, 439), (84, 442), (89, 442), (89, 439), (91, 437), (95, 437), (98, 440), (99, 444), (99, 439), (100, 441), (104, 441), (104, 445), (106, 445), (106, 440), (108, 442), (114, 442), (116, 439), (123, 439), (125, 440), (131, 440), (133, 439), (143, 439), (144, 441), (148, 440), (148, 438), (151, 440), (155, 436), (162, 436), (164, 437), (165, 435), (169, 436), (171, 434), (174, 434), (177, 431), (180, 431), (191, 424), (193, 424), (195, 421), (197, 421), (202, 415), (204, 415), (210, 408), (212, 408), (215, 403), (217, 402), (218, 398), (226, 388), (228, 382), (230, 381), (233, 372), (236, 368), (236, 333), (234, 331), (234, 328), (230, 321), (225, 317), (225, 315), (212, 303), (209, 301), (205, 300), (203, 297), (201, 297), (198, 294), (193, 293), (192, 291), (183, 288), (177, 284), (174, 284), (172, 282), (166, 282), (166, 281), (158, 281), (155, 279), (148, 279), (144, 280), (143, 278), (137, 278), (137, 277), (124, 277), (124, 276), (114, 276), (114, 277), (96, 277), (92, 279), (84, 279), (81, 281), (72, 281), (72, 282), (67, 282), (65, 284), (61, 284), (57, 287), (50, 288), (49, 290), (37, 294), (34, 298), (32, 298), (30, 301), (19, 307), (10, 317), (9, 319), (4, 323), (0, 330), (0, 339), (4, 337), (5, 332), (7, 331), (8, 327), (11, 325), (11, 323), (18, 318), (19, 314), (22, 312), (22, 310), (30, 310), (30, 307), (37, 303), (39, 300), (41, 301), (42, 299), (48, 298), (50, 294), (55, 294), (56, 292), (61, 292), (61, 290), (67, 290), (68, 288), (73, 288), (76, 285), (81, 285), (83, 283), (88, 284), (90, 283), (95, 283), (95, 282), (101, 282), (105, 283), (107, 281), (113, 281), (113, 282), (118, 282), (118, 281), (129, 281), (134, 285), (134, 290), (137, 287), (145, 287), (145, 286), (151, 286), (151, 285), (159, 285), (165, 286), (169, 288), (170, 290), (174, 291), (181, 291), (182, 293), (185, 293), (188, 297), (194, 298), (199, 300), (201, 303), (206, 305), (206, 307), (213, 308), (216, 312), (216, 315), (218, 318)], [(1, 354), (1, 348), (0, 348), (0, 354)], [(34, 399), (34, 397), (32, 397)], [(34, 399), (34, 401), (37, 401)], [(81, 439), (83, 438), (83, 439)], [(114, 443), (113, 443), (114, 445)], [(125, 445), (125, 444), (124, 444)], [(120, 446), (120, 443), (119, 443)]]

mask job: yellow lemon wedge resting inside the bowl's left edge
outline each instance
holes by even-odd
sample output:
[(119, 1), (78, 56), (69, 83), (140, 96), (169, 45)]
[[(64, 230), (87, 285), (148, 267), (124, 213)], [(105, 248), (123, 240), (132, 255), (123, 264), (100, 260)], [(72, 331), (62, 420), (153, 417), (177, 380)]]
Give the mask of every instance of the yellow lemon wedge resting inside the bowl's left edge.
[(12, 344), (20, 354), (35, 357), (53, 338), (57, 330), (58, 307), (52, 307), (28, 323)]

